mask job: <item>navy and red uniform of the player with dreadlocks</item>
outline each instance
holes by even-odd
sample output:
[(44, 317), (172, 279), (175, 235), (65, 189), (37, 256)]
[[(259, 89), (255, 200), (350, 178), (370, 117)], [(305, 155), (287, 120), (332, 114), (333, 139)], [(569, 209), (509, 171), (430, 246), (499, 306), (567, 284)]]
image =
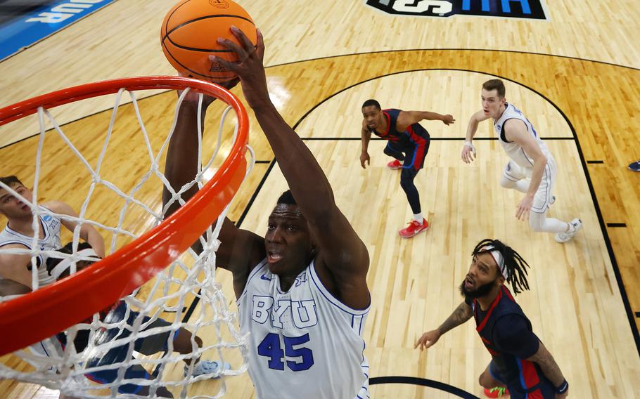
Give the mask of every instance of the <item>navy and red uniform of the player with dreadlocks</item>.
[(526, 360), (538, 351), (540, 341), (511, 292), (503, 285), (487, 311), (477, 299), (471, 306), (476, 330), (492, 355), (489, 372), (507, 386), (511, 399), (555, 398), (555, 388), (539, 365)]

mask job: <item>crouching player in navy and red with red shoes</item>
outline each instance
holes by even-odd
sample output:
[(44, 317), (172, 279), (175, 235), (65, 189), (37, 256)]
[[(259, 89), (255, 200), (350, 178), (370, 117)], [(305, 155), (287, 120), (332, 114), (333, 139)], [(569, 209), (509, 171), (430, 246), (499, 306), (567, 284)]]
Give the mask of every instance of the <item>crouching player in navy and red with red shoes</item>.
[[(400, 187), (409, 201), (414, 216), (406, 228), (398, 231), (402, 238), (414, 237), (429, 228), (429, 223), (422, 214), (420, 195), (414, 184), (418, 171), (423, 168), (429, 151), (429, 133), (418, 122), (423, 119), (438, 120), (449, 125), (455, 122), (452, 115), (440, 115), (428, 111), (403, 111), (396, 109), (383, 110), (376, 100), (366, 100), (362, 104), (362, 152), (360, 165), (371, 164), (369, 157), (369, 140), (371, 133), (388, 140), (384, 153), (395, 159), (387, 164), (390, 169), (402, 169)], [(400, 163), (402, 161), (402, 163)]]

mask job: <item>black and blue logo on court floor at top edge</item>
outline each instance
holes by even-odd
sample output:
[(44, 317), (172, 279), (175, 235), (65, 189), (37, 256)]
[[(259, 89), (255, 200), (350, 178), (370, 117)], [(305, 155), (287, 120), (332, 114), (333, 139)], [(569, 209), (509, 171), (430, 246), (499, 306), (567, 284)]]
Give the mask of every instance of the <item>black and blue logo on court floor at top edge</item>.
[(544, 0), (367, 0), (366, 4), (395, 15), (486, 17), (546, 20)]

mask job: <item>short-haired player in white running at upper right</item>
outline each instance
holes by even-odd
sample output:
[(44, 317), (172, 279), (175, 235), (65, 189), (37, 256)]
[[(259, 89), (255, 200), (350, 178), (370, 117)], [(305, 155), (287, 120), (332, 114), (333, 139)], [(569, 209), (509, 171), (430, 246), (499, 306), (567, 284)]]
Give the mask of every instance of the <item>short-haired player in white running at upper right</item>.
[(557, 242), (567, 242), (582, 228), (582, 221), (575, 218), (567, 223), (546, 217), (549, 205), (555, 201), (552, 192), (556, 181), (556, 161), (531, 122), (513, 104), (507, 103), (504, 95), (505, 88), (500, 79), (482, 84), (482, 110), (469, 121), (462, 160), (467, 164), (473, 161), (475, 148), (471, 140), (478, 124), (492, 118), (498, 140), (511, 158), (504, 168), (500, 185), (525, 193), (518, 204), (516, 218), (529, 218), (532, 230), (556, 233)]

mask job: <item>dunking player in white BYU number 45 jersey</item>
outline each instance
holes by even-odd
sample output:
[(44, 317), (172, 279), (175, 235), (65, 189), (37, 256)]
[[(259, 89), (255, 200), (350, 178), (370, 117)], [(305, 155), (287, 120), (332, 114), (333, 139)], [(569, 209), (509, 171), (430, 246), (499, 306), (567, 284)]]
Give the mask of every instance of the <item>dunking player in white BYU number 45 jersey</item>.
[[(312, 152), (269, 100), (262, 35), (253, 46), (232, 32), (242, 47), (219, 42), (241, 62), (216, 61), (240, 77), (290, 188), (271, 212), (265, 237), (228, 218), (219, 233), (217, 265), (233, 273), (241, 329), (250, 332), (249, 374), (257, 397), (369, 398), (361, 338), (371, 303), (369, 253), (336, 206)], [(198, 159), (197, 103), (196, 96), (183, 103), (169, 144), (165, 176), (177, 189), (196, 176), (197, 165), (185, 160)]]

